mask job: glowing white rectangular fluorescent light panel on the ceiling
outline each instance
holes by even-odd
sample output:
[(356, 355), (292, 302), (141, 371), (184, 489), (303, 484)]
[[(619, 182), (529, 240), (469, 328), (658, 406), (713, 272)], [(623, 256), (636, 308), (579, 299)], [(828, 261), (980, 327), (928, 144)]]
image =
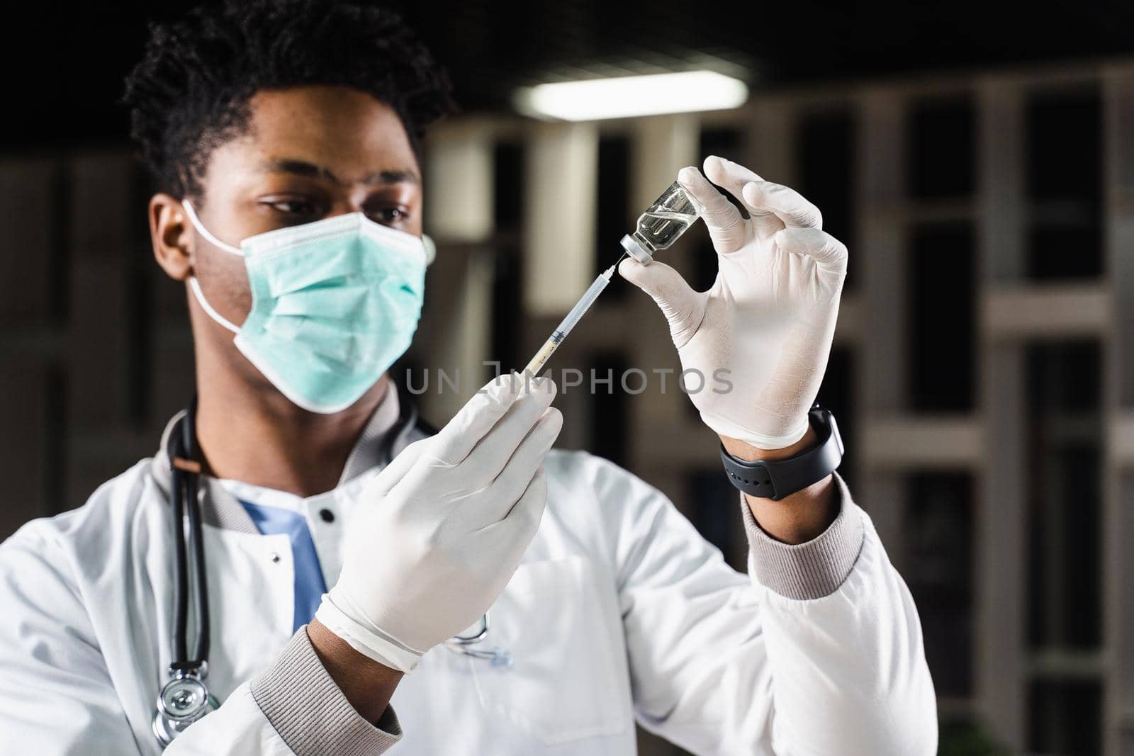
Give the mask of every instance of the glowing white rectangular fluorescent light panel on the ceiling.
[(744, 104), (747, 97), (744, 82), (701, 70), (540, 84), (519, 90), (515, 103), (521, 112), (536, 118), (590, 121), (726, 110)]

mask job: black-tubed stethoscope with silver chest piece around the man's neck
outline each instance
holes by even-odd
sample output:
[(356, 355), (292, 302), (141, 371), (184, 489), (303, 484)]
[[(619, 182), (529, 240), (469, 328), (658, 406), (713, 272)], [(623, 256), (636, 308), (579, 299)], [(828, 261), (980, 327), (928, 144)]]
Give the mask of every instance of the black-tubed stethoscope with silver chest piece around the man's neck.
[[(391, 387), (397, 390), (397, 387)], [(389, 464), (393, 459), (395, 444), (411, 430), (417, 428), (426, 435), (437, 430), (417, 417), (414, 404), (399, 391), (399, 417), (393, 428), (386, 434), (380, 459)], [(209, 586), (205, 580), (204, 542), (201, 533), (201, 504), (197, 487), (201, 481), (201, 455), (194, 422), (196, 397), (185, 408), (185, 414), (174, 425), (169, 434), (170, 516), (174, 520), (174, 622), (170, 639), (169, 680), (158, 694), (158, 705), (153, 714), (153, 733), (162, 748), (168, 747), (178, 734), (205, 714), (215, 711), (220, 704), (209, 693), (205, 679), (209, 677)], [(188, 530), (186, 532), (186, 526)], [(192, 562), (192, 563), (191, 563)], [(193, 572), (193, 612), (195, 617), (195, 639), (193, 654), (187, 653), (189, 570)], [(510, 666), (511, 655), (502, 648), (476, 647), (489, 635), (489, 613), (480, 621), (454, 636), (442, 645), (471, 659), (485, 660), (493, 666)]]

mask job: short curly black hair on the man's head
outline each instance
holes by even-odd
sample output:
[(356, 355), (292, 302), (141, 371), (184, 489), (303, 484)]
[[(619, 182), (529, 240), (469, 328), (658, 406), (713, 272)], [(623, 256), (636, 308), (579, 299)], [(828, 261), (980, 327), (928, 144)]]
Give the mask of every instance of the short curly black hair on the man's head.
[(384, 102), (415, 153), (456, 110), (448, 74), (401, 17), (354, 0), (226, 0), (151, 24), (122, 101), (159, 188), (200, 201), (209, 158), (247, 128), (252, 96), (308, 84)]

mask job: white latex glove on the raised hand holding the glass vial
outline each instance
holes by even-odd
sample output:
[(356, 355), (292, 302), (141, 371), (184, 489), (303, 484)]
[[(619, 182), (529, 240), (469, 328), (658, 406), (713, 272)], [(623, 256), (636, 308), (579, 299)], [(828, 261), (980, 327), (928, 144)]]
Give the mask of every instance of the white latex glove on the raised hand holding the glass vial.
[[(719, 435), (782, 449), (807, 432), (839, 312), (847, 249), (822, 230), (822, 215), (793, 189), (710, 155), (705, 175), (747, 207), (745, 220), (695, 168), (677, 180), (701, 201), (720, 266), (694, 291), (669, 265), (627, 258), (618, 267), (669, 321), (689, 398)], [(716, 380), (717, 371), (725, 380)], [(733, 384), (727, 389), (727, 382)]]

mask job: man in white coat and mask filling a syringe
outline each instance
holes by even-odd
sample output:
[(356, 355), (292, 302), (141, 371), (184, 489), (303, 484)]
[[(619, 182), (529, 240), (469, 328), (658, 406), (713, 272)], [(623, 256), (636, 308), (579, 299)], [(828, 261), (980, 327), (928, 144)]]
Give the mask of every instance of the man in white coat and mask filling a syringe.
[[(152, 460), (0, 546), (0, 753), (632, 754), (635, 719), (700, 754), (934, 751), (916, 611), (809, 421), (846, 270), (814, 206), (709, 158), (747, 211), (679, 175), (714, 287), (620, 269), (683, 366), (731, 385), (692, 398), (746, 491), (750, 579), (642, 481), (549, 451), (548, 380), (496, 381), (435, 435), (399, 422), (417, 145), (450, 108), (399, 19), (198, 9), (152, 28), (127, 102), (198, 394)], [(183, 508), (205, 555), (184, 586)], [(177, 721), (202, 679), (221, 705)]]

